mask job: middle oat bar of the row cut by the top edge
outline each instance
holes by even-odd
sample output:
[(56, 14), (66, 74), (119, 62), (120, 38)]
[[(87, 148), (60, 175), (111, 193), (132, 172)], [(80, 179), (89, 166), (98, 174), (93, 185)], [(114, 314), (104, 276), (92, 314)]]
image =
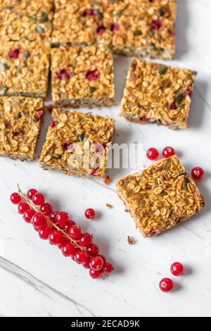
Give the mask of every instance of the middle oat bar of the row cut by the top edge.
[(108, 4), (108, 0), (56, 0), (53, 46), (111, 44), (113, 18), (106, 11)]

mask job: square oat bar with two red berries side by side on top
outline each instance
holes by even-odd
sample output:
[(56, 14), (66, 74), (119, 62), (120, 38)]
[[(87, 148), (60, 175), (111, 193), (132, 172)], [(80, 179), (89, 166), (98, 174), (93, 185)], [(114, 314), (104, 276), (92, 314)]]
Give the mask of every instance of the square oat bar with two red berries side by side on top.
[(113, 54), (105, 46), (51, 49), (54, 106), (115, 104)]

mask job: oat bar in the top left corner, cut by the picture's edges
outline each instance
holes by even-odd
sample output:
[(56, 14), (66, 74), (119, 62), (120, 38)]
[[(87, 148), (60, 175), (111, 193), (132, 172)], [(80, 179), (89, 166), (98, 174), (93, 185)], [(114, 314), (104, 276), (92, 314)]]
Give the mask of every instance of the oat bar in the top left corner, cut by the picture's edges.
[(0, 0), (0, 41), (51, 40), (53, 0)]

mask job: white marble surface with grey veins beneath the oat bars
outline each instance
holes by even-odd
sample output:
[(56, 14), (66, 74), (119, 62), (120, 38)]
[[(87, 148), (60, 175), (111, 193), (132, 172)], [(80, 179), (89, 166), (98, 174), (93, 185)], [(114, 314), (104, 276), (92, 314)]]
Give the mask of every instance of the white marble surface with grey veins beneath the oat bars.
[[(174, 65), (198, 71), (191, 106), (191, 129), (171, 131), (156, 125), (136, 125), (118, 116), (129, 59), (115, 59), (118, 106), (101, 114), (117, 120), (115, 142), (140, 142), (144, 149), (174, 146), (188, 170), (199, 165), (207, 173), (198, 183), (207, 206), (199, 216), (153, 239), (143, 239), (124, 212), (114, 185), (46, 172), (37, 161), (0, 160), (0, 316), (211, 316), (211, 0), (179, 0), (177, 60)], [(99, 111), (94, 110), (95, 113)], [(46, 116), (42, 130), (44, 142)], [(144, 156), (144, 164), (150, 162)], [(140, 162), (141, 168), (141, 162)], [(110, 170), (113, 182), (130, 170)], [(84, 230), (92, 232), (101, 252), (115, 264), (106, 280), (91, 280), (56, 247), (37, 237), (11, 206), (9, 196), (19, 182), (37, 187), (57, 208), (67, 210)], [(113, 209), (105, 207), (113, 204)], [(84, 220), (94, 207), (98, 220)], [(136, 239), (127, 244), (127, 235)], [(158, 282), (170, 276), (170, 264), (183, 262), (188, 274), (177, 279), (171, 294)]]

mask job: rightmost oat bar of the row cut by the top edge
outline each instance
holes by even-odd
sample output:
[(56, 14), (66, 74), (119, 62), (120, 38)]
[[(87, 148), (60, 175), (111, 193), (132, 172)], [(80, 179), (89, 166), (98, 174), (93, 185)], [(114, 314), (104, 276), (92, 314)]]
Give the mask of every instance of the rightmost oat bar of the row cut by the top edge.
[(175, 56), (174, 0), (108, 1), (115, 54), (171, 59)]

